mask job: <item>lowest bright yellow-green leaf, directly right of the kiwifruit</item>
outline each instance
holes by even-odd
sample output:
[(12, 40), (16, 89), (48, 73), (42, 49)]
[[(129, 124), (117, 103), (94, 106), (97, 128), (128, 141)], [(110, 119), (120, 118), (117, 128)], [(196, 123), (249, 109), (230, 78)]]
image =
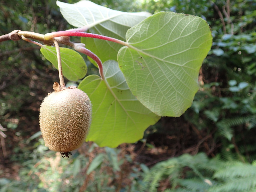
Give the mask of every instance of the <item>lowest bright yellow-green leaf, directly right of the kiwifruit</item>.
[(132, 95), (116, 61), (106, 61), (103, 70), (106, 80), (90, 75), (78, 86), (92, 102), (92, 124), (87, 140), (109, 147), (134, 143), (160, 117)]

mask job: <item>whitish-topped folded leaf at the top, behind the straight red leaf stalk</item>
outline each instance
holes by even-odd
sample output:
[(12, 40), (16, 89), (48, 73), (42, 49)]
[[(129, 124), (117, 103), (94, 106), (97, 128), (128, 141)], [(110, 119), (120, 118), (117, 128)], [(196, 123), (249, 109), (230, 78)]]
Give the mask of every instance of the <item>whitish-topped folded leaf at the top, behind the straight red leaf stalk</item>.
[[(126, 31), (150, 16), (150, 13), (127, 13), (112, 10), (90, 1), (82, 0), (75, 4), (57, 1), (63, 17), (75, 27), (87, 26), (91, 33), (105, 35), (125, 41)], [(116, 60), (122, 45), (100, 39), (81, 38), (86, 48), (94, 52), (102, 62)], [(90, 59), (91, 60), (91, 59)], [(92, 60), (91, 60), (92, 61)], [(95, 62), (92, 61), (94, 64)]]

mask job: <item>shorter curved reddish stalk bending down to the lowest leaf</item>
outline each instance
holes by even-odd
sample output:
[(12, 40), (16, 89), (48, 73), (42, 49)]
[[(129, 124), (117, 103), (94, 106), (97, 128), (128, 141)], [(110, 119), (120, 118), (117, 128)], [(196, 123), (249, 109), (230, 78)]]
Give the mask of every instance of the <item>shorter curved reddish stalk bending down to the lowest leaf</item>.
[(102, 66), (102, 62), (100, 60), (100, 58), (95, 55), (92, 51), (90, 51), (89, 49), (86, 49), (85, 47), (83, 47), (84, 44), (75, 44), (74, 45), (74, 49), (76, 49), (77, 51), (89, 56), (90, 58), (92, 58), (98, 65), (99, 67), (99, 72), (100, 72), (100, 76), (101, 76), (101, 79), (104, 80), (105, 77), (104, 77), (104, 73), (103, 73), (103, 66)]

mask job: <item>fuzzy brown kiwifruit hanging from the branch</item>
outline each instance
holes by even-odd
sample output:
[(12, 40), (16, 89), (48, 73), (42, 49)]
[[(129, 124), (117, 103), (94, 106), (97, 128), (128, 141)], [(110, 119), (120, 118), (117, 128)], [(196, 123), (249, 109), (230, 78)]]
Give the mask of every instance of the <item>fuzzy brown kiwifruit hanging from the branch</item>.
[(74, 86), (54, 92), (43, 100), (39, 123), (45, 146), (52, 151), (70, 152), (84, 142), (91, 123), (91, 102), (85, 92)]

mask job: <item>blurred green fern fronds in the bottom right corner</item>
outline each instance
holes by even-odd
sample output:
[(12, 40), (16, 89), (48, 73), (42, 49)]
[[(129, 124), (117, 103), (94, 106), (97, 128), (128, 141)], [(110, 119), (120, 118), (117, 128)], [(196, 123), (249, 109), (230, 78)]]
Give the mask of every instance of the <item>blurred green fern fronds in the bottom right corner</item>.
[(157, 191), (161, 179), (167, 178), (172, 189), (165, 192), (252, 192), (256, 191), (256, 163), (183, 154), (152, 167), (144, 178), (143, 191)]

